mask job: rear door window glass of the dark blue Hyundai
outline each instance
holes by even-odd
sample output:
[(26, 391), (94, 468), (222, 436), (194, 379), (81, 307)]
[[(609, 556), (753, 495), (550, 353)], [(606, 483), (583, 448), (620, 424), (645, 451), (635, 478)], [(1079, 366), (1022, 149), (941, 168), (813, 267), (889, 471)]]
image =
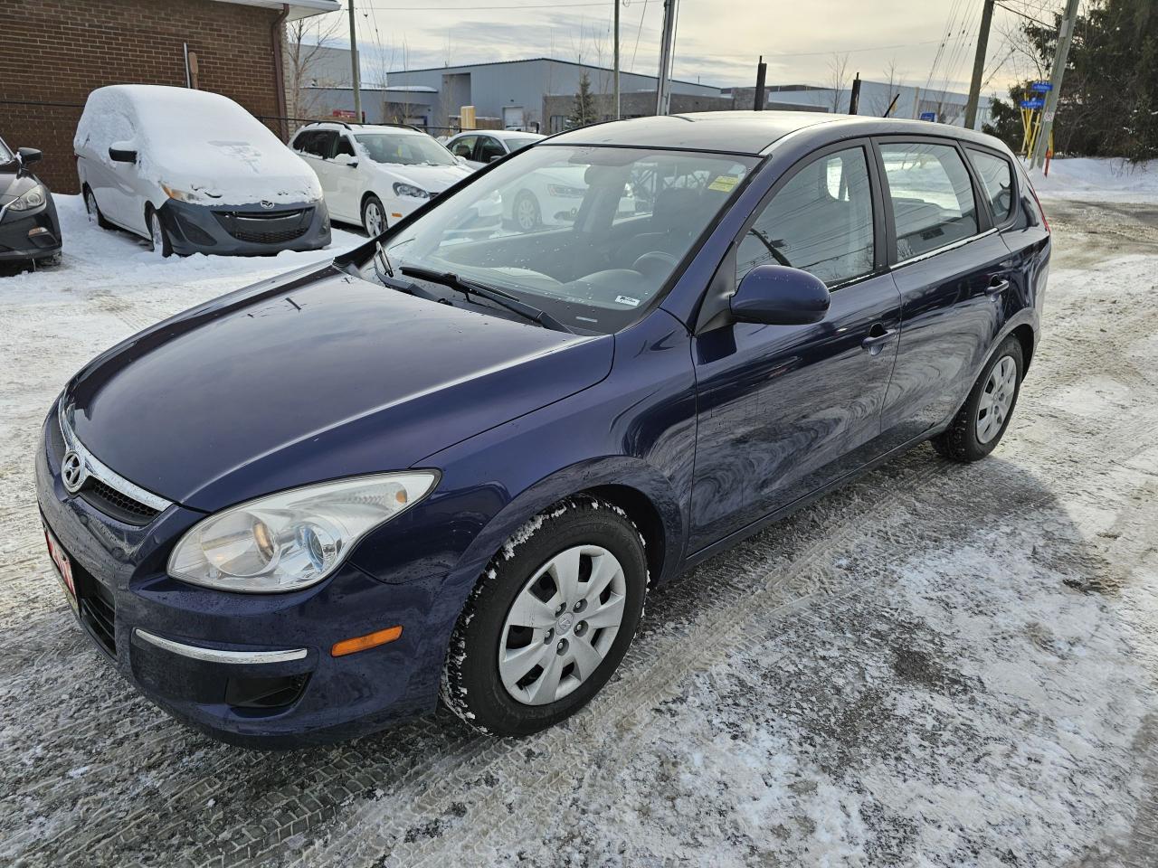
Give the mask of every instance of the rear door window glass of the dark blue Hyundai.
[(880, 146), (896, 222), (896, 258), (922, 256), (977, 234), (969, 172), (952, 145)]

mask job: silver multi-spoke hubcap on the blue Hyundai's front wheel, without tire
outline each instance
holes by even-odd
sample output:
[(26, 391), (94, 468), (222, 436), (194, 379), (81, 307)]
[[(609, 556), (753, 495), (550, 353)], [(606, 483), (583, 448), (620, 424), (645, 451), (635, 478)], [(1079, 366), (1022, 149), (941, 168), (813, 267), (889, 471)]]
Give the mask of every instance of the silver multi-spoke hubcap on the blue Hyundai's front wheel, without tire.
[(547, 705), (591, 678), (623, 623), (626, 576), (607, 549), (559, 552), (523, 584), (499, 640), (499, 678), (523, 705)]

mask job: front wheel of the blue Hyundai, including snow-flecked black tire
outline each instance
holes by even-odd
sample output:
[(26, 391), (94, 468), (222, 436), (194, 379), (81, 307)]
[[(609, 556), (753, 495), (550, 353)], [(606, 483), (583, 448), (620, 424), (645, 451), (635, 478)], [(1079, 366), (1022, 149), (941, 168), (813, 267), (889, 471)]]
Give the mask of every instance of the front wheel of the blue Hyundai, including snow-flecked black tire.
[(511, 538), (467, 602), (444, 701), (493, 735), (558, 723), (620, 665), (646, 590), (639, 531), (622, 510), (591, 499), (551, 508)]

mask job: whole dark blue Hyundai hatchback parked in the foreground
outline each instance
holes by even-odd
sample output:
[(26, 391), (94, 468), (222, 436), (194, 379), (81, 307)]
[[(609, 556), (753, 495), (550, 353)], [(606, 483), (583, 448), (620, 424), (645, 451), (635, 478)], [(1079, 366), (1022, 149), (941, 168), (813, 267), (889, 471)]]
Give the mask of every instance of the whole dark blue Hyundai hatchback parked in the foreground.
[[(573, 206), (485, 219), (536, 190)], [(1049, 255), (977, 133), (564, 133), (89, 362), (36, 457), (51, 559), (125, 677), (225, 741), (350, 737), (440, 694), (532, 733), (607, 682), (652, 583), (925, 440), (989, 454)]]

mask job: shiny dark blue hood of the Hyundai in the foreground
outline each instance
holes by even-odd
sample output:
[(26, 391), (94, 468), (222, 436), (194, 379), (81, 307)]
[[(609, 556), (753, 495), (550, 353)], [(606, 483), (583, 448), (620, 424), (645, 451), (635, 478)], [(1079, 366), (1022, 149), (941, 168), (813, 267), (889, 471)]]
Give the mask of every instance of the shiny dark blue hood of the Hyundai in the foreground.
[(212, 512), (400, 470), (607, 376), (614, 340), (387, 289), (327, 266), (112, 347), (69, 383), (80, 441), (126, 479)]

